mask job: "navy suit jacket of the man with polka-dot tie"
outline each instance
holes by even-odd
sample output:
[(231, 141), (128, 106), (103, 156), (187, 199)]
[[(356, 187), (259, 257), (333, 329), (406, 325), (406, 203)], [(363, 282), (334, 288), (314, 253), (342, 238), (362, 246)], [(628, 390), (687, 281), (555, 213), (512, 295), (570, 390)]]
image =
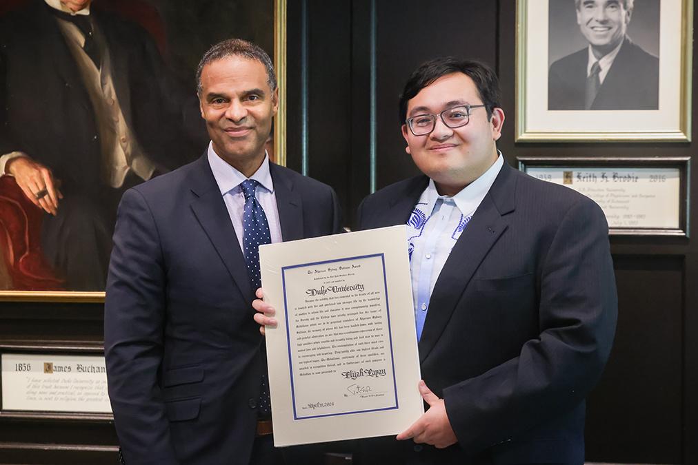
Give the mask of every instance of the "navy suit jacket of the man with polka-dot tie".
[[(329, 186), (270, 164), (284, 241), (339, 231)], [(207, 156), (126, 191), (105, 300), (109, 395), (128, 464), (247, 464), (263, 338)]]

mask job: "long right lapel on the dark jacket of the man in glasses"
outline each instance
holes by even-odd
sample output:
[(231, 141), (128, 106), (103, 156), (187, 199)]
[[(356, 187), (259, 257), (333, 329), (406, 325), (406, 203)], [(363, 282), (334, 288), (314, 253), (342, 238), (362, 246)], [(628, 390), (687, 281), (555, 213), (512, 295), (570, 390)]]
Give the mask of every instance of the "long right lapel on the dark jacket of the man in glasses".
[(514, 210), (516, 183), (512, 171), (505, 162), (436, 280), (419, 340), (420, 362), (429, 356), (473, 274), (509, 225), (505, 214)]

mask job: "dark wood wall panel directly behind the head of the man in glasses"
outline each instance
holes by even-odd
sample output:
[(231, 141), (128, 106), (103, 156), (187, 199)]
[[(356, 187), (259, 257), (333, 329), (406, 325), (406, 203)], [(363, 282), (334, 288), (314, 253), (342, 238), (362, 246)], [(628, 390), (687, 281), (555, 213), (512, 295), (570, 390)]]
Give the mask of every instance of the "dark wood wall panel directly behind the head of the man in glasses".
[(376, 1), (378, 188), (418, 174), (398, 118), (409, 74), (437, 56), (463, 56), (496, 66), (497, 2)]

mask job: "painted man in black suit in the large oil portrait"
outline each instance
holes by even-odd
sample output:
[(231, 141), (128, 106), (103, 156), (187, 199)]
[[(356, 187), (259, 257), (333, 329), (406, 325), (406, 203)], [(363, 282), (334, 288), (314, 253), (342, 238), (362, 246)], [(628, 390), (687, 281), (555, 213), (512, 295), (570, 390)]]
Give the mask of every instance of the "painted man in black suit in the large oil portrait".
[(124, 190), (205, 140), (149, 34), (97, 7), (30, 0), (0, 21), (0, 176), (47, 213), (42, 250), (73, 291), (104, 289)]

